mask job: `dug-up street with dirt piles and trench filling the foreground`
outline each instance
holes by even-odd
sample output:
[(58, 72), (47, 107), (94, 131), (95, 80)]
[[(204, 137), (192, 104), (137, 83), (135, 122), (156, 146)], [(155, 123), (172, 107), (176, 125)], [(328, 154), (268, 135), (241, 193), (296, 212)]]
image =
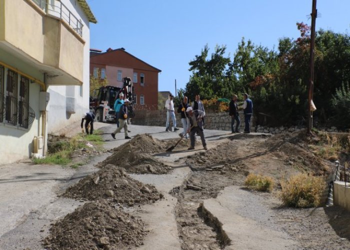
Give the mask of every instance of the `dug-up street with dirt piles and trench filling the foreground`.
[[(105, 147), (108, 149), (125, 142), (110, 138), (109, 132), (113, 128), (113, 125), (101, 127), (104, 131)], [(133, 181), (125, 178), (128, 192), (134, 190), (132, 196), (130, 195), (132, 202), (125, 200), (127, 195), (123, 193), (122, 203), (113, 203), (113, 200), (118, 199), (113, 199), (110, 193), (109, 196), (102, 193), (102, 198), (109, 200), (109, 203), (97, 201), (95, 206), (90, 205), (88, 209), (92, 213), (98, 210), (98, 217), (103, 218), (103, 224), (98, 224), (98, 219), (86, 213), (85, 217), (81, 217), (85, 225), (79, 229), (82, 230), (81, 233), (69, 238), (69, 229), (67, 231), (66, 228), (70, 228), (71, 215), (67, 215), (67, 220), (63, 216), (67, 213), (73, 214), (77, 221), (75, 223), (80, 223), (79, 214), (82, 213), (72, 212), (76, 207), (82, 207), (86, 200), (60, 198), (57, 194), (63, 193), (67, 186), (72, 187), (86, 175), (103, 170), (103, 164), (100, 165), (101, 170), (93, 164), (87, 164), (76, 171), (59, 166), (31, 166), (22, 174), (24, 177), (19, 172), (23, 171), (25, 164), (17, 165), (18, 173), (12, 172), (11, 176), (5, 175), (6, 171), (7, 174), (11, 172), (8, 170), (9, 166), (0, 167), (0, 192), (1, 196), (7, 197), (1, 203), (0, 211), (1, 217), (6, 216), (8, 220), (0, 226), (0, 249), (43, 249), (41, 240), (48, 235), (50, 237), (46, 238), (46, 247), (51, 249), (69, 249), (54, 246), (59, 242), (59, 237), (67, 235), (64, 242), (68, 242), (68, 245), (70, 242), (71, 246), (77, 243), (81, 246), (88, 242), (89, 246), (95, 244), (94, 249), (350, 249), (349, 212), (335, 206), (285, 208), (278, 198), (278, 185), (271, 193), (244, 188), (243, 181), (249, 172), (269, 175), (278, 183), (281, 176), (287, 177), (305, 169), (317, 170), (320, 164), (318, 159), (302, 147), (296, 146), (296, 143), (291, 143), (295, 135), (232, 135), (227, 131), (206, 130), (209, 150), (202, 150), (199, 140), (195, 150), (187, 151), (187, 142), (183, 141), (172, 152), (165, 152), (163, 149), (174, 141), (169, 141), (169, 138), (176, 137), (176, 133), (165, 133), (162, 127), (130, 128), (133, 131), (131, 136), (147, 131), (154, 139), (141, 136), (138, 143), (131, 140), (128, 142), (130, 145), (124, 144), (124, 147), (120, 147), (121, 151), (112, 150), (109, 154), (94, 159), (93, 163), (101, 162), (107, 156), (111, 159), (113, 155), (121, 157), (119, 155), (126, 155), (128, 150), (142, 152), (132, 155), (133, 161), (129, 161), (137, 162), (137, 166), (141, 165), (141, 168), (135, 168), (134, 163), (118, 162), (115, 167), (126, 167), (125, 171), (131, 178), (154, 186), (156, 189), (152, 189), (152, 195), (161, 193), (160, 199), (151, 198), (150, 202), (137, 205), (135, 200), (148, 196), (142, 196), (142, 184), (133, 187)], [(140, 141), (143, 140), (147, 141), (147, 146), (143, 142), (142, 146)], [(149, 157), (145, 157), (144, 153)], [(138, 157), (139, 155), (143, 156)], [(152, 162), (155, 161), (156, 167), (153, 168)], [(161, 166), (167, 170), (160, 171)], [(39, 176), (40, 185), (36, 188), (34, 185), (25, 185), (25, 182), (30, 182), (28, 178), (33, 179), (30, 176), (35, 172)], [(51, 177), (43, 178), (46, 174)], [(95, 181), (96, 174), (89, 181)], [(19, 184), (9, 185), (9, 179), (18, 181)], [(104, 183), (97, 182), (98, 185)], [(114, 189), (108, 188), (122, 192), (120, 181), (116, 182), (117, 185), (113, 185), (111, 179), (105, 183)], [(140, 198), (137, 193), (140, 193)], [(11, 199), (11, 195), (15, 198)], [(110, 210), (114, 209), (111, 205), (117, 209), (115, 214), (114, 210)], [(103, 211), (110, 216), (104, 218)], [(118, 216), (120, 219), (115, 221)], [(57, 223), (58, 217), (62, 225)], [(122, 225), (130, 233), (119, 235), (113, 229), (113, 223), (124, 223), (123, 221), (128, 220), (132, 221), (132, 225)], [(57, 234), (49, 230), (53, 225)], [(65, 228), (66, 235), (58, 233), (59, 226)], [(113, 234), (108, 234), (108, 230), (114, 230)], [(53, 239), (56, 241), (52, 241)]]

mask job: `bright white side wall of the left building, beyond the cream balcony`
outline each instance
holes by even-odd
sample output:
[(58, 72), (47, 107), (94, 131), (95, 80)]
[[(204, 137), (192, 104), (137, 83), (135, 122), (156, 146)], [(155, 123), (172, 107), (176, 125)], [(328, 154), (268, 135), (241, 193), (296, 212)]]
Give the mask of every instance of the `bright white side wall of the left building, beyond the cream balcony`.
[[(80, 86), (49, 86), (47, 91), (50, 93), (48, 103), (48, 132), (54, 132), (76, 120), (81, 119), (81, 113), (89, 109), (89, 63), (90, 63), (90, 29), (89, 22), (80, 5), (76, 0), (61, 0), (61, 2), (78, 18), (83, 24), (82, 38), (85, 41), (83, 49), (83, 84), (82, 96), (80, 95)], [(61, 84), (65, 84), (62, 82)], [(67, 99), (67, 97), (69, 99)], [(67, 104), (74, 98), (75, 113), (67, 112)]]

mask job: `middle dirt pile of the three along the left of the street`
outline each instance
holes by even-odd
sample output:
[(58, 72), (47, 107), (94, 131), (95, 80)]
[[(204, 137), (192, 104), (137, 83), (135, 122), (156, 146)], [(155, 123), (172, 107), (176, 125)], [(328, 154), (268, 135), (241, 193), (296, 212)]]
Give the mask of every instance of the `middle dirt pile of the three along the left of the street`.
[(129, 177), (125, 169), (108, 164), (66, 189), (68, 198), (112, 200), (123, 205), (152, 203), (163, 197), (153, 185), (142, 184)]

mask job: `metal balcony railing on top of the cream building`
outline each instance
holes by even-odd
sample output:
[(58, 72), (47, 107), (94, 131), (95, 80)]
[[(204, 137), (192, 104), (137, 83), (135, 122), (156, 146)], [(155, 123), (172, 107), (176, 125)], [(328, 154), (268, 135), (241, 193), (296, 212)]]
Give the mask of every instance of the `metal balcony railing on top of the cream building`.
[(82, 22), (69, 9), (58, 0), (32, 0), (46, 14), (58, 17), (65, 21), (72, 29), (82, 36)]

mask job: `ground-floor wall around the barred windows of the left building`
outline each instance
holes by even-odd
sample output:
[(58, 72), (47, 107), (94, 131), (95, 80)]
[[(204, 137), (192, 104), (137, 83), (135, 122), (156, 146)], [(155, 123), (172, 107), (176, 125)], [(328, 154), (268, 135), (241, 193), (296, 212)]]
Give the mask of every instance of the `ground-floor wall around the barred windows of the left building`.
[[(41, 72), (1, 49), (0, 60), (17, 68), (23, 73), (43, 80), (43, 74)], [(18, 80), (19, 78), (20, 75), (18, 75)], [(17, 91), (19, 92), (19, 83)], [(7, 164), (30, 156), (33, 138), (41, 134), (41, 119), (38, 102), (39, 91), (40, 86), (37, 83), (29, 83), (29, 106), (35, 112), (35, 119), (29, 124), (27, 129), (21, 128), (18, 125), (6, 124), (6, 122), (0, 123), (0, 164)]]

